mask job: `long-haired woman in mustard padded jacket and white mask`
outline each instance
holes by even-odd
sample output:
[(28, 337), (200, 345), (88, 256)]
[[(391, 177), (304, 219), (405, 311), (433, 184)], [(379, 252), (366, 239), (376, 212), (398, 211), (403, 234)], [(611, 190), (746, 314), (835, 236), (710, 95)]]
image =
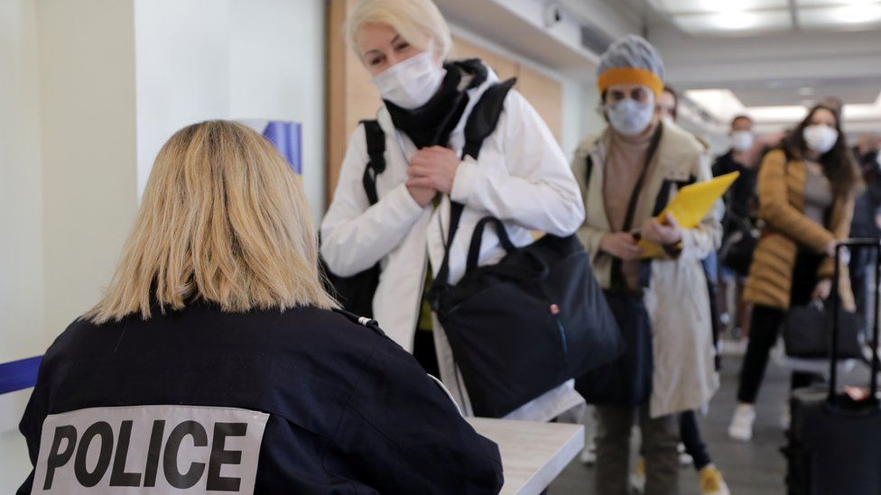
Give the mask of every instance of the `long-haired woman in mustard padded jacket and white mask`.
[[(728, 427), (732, 438), (752, 438), (756, 398), (787, 309), (829, 298), (835, 245), (849, 236), (861, 182), (835, 107), (811, 108), (782, 146), (765, 155), (758, 174), (758, 215), (765, 228), (744, 292), (754, 307), (738, 405)], [(848, 270), (841, 270), (839, 297), (845, 308), (854, 308)], [(814, 378), (793, 371), (792, 389)]]

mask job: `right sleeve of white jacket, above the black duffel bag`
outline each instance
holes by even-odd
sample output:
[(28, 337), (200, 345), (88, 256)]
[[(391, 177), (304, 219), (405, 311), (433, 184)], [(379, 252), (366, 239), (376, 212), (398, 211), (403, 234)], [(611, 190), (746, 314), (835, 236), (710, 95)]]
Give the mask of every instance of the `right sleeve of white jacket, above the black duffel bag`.
[(485, 150), (478, 160), (462, 161), (450, 198), (527, 229), (574, 233), (584, 220), (578, 183), (551, 130), (520, 93), (508, 93), (487, 139), (500, 139), (504, 152)]

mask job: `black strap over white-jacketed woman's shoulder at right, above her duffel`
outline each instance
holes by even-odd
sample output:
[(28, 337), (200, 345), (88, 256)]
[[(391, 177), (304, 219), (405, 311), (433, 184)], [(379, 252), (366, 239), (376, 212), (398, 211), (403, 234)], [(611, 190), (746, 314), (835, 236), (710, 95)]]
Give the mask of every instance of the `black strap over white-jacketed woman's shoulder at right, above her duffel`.
[[(477, 160), (484, 140), (496, 130), (498, 119), (505, 108), (505, 97), (516, 82), (516, 78), (510, 78), (505, 82), (488, 87), (483, 92), (483, 95), (480, 96), (478, 103), (471, 109), (471, 114), (468, 115), (468, 122), (465, 124), (465, 146), (462, 149), (463, 159), (466, 156), (470, 156)], [(437, 278), (435, 278), (434, 287), (446, 285), (450, 281), (450, 246), (453, 243), (456, 231), (459, 230), (459, 220), (462, 218), (462, 211), (464, 209), (465, 206), (461, 203), (455, 201), (450, 203), (450, 232), (447, 234), (443, 261), (440, 263), (440, 270), (438, 271)], [(434, 300), (434, 298), (431, 299)]]

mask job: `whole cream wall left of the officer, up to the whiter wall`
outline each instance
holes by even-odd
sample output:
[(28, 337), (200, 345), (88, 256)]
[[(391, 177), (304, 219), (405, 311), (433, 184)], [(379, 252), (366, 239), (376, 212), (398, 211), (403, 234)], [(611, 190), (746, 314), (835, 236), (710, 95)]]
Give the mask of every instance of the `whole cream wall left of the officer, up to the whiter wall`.
[[(134, 215), (131, 2), (0, 0), (0, 362), (97, 302)], [(71, 22), (73, 21), (73, 22)], [(0, 492), (30, 469), (0, 396)]]

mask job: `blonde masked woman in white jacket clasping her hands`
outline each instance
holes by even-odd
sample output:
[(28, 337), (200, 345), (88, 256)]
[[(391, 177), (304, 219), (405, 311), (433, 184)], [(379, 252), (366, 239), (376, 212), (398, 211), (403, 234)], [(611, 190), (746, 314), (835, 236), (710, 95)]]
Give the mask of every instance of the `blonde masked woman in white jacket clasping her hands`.
[[(464, 205), (461, 234), (450, 246), (455, 283), (478, 220), (501, 219), (516, 245), (532, 242), (530, 231), (572, 234), (584, 219), (579, 187), (547, 125), (515, 90), (505, 97), (479, 160), (460, 159), (468, 115), (498, 78), (478, 60), (443, 62), (450, 29), (431, 0), (365, 0), (350, 14), (347, 35), (385, 102), (376, 118), (385, 133), (386, 167), (376, 178), (379, 200), (371, 206), (362, 183), (368, 156), (359, 126), (321, 225), (321, 254), (342, 277), (380, 263), (373, 316), (423, 366), (436, 367), (469, 415), (450, 345), (423, 300), (428, 280), (440, 270), (450, 201)], [(504, 254), (487, 231), (479, 263), (495, 263)], [(567, 382), (508, 417), (546, 421), (580, 403)]]

